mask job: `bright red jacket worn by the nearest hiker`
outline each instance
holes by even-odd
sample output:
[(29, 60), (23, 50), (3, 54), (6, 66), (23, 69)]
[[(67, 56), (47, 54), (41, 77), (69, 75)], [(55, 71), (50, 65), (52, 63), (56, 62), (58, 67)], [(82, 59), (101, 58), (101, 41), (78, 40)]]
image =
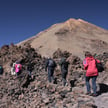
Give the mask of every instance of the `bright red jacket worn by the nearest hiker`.
[(96, 61), (100, 63), (99, 60), (91, 57), (86, 57), (83, 61), (84, 69), (86, 71), (86, 76), (98, 76), (98, 70), (96, 68)]

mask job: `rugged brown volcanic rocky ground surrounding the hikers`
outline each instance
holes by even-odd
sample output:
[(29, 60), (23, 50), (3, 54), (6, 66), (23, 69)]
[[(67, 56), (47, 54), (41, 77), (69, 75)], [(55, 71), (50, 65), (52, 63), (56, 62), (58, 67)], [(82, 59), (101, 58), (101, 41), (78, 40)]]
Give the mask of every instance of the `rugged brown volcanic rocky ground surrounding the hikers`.
[[(67, 51), (58, 49), (53, 58), (56, 63), (61, 56), (70, 62), (68, 86), (62, 86), (60, 67), (55, 70), (55, 84), (48, 83), (45, 72), (45, 59), (30, 45), (17, 47), (5, 45), (0, 50), (0, 64), (4, 73), (0, 76), (0, 108), (107, 108), (108, 102), (108, 53), (97, 58), (105, 66), (105, 71), (99, 74), (98, 97), (85, 95), (84, 70), (82, 60)], [(12, 60), (20, 60), (23, 71), (19, 77), (10, 74)], [(34, 79), (28, 77), (27, 63), (32, 62)]]

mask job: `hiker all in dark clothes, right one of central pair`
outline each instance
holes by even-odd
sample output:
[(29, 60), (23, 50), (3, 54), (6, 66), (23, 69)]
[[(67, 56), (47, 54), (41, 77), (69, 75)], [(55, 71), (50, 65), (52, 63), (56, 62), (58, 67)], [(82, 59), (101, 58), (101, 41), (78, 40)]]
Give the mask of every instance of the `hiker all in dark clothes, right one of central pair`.
[(66, 77), (67, 77), (67, 74), (68, 74), (69, 62), (66, 60), (65, 57), (62, 57), (59, 64), (60, 64), (60, 67), (61, 67), (63, 86), (66, 86), (68, 84), (67, 81), (66, 81)]

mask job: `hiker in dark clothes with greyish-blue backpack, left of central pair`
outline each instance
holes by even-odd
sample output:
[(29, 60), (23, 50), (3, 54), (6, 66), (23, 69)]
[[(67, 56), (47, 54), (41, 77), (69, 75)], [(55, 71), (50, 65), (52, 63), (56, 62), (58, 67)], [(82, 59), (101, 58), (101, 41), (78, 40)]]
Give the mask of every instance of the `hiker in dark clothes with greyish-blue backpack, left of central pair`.
[(54, 70), (55, 70), (55, 67), (57, 66), (56, 62), (52, 59), (52, 58), (48, 58), (46, 60), (46, 63), (45, 63), (45, 71), (47, 72), (48, 71), (48, 81), (51, 83), (52, 80), (53, 80), (53, 83), (54, 83)]

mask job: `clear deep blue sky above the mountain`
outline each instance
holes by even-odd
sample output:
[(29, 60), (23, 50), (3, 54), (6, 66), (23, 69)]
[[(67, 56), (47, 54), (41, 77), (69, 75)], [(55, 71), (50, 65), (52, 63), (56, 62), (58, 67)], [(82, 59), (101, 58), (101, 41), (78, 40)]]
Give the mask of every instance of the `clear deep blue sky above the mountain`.
[(23, 41), (69, 18), (108, 29), (108, 0), (0, 0), (0, 46)]

